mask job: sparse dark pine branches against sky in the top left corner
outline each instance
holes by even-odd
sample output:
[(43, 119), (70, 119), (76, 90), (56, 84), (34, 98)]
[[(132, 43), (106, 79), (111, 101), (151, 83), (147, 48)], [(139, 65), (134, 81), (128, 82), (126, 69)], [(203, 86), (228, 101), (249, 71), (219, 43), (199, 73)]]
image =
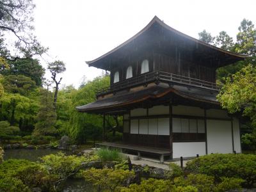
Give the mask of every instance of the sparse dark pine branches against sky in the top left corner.
[(35, 54), (43, 54), (47, 51), (42, 47), (36, 36), (31, 31), (33, 26), (33, 9), (35, 4), (32, 0), (1, 0), (0, 1), (0, 34), (6, 32), (13, 34), (16, 48), (15, 56), (11, 54), (2, 54), (0, 56), (8, 60), (17, 60), (19, 58), (31, 58)]

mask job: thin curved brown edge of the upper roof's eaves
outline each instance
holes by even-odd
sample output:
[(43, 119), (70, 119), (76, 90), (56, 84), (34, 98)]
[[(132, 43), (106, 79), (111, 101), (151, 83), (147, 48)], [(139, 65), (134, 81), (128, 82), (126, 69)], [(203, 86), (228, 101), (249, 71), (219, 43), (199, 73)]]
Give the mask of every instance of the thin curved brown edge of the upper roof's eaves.
[(103, 54), (102, 56), (100, 56), (99, 58), (96, 58), (95, 60), (92, 61), (86, 61), (86, 64), (89, 65), (89, 67), (93, 66), (93, 63), (95, 63), (96, 61), (101, 60), (102, 58), (108, 56), (109, 54), (112, 54), (113, 52), (117, 51), (118, 49), (124, 47), (125, 45), (129, 44), (129, 42), (132, 42), (132, 40), (134, 40), (135, 38), (137, 38), (138, 36), (140, 36), (142, 33), (144, 33), (145, 31), (147, 31), (148, 28), (150, 28), (152, 26), (152, 24), (154, 24), (155, 22), (157, 22), (158, 24), (160, 24), (161, 26), (163, 26), (164, 28), (176, 33), (177, 35), (180, 36), (184, 36), (184, 38), (188, 38), (189, 40), (192, 40), (193, 42), (196, 42), (198, 44), (202, 44), (205, 45), (206, 47), (210, 47), (211, 49), (215, 49), (217, 51), (223, 52), (225, 54), (229, 54), (231, 56), (236, 56), (237, 58), (247, 58), (248, 55), (243, 55), (243, 54), (237, 54), (235, 52), (230, 52), (230, 51), (225, 51), (223, 49), (220, 49), (219, 47), (215, 47), (214, 45), (210, 45), (207, 44), (205, 42), (202, 42), (196, 38), (193, 38), (191, 36), (188, 36), (180, 31), (177, 31), (176, 29), (171, 28), (170, 26), (168, 26), (167, 24), (165, 24), (163, 21), (161, 21), (157, 16), (155, 16), (148, 24), (147, 26), (145, 26), (145, 28), (141, 29), (141, 31), (139, 31), (138, 33), (136, 33), (136, 35), (132, 36), (131, 38), (129, 38), (129, 40), (125, 41), (124, 43), (118, 45), (118, 47), (116, 47), (115, 49), (112, 49), (109, 52), (106, 52), (105, 54)]

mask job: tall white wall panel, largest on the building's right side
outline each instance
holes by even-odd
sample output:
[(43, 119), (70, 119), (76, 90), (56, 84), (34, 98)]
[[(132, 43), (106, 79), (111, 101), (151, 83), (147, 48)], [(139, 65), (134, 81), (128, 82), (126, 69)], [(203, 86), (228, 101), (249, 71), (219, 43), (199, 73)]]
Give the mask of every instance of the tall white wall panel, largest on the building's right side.
[(232, 153), (231, 121), (207, 120), (208, 154)]

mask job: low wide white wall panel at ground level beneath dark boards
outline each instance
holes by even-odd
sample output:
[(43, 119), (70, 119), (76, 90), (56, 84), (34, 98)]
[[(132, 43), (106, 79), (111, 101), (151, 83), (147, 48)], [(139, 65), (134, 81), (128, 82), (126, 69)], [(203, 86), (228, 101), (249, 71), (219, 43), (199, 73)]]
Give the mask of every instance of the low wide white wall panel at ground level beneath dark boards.
[(173, 143), (173, 158), (205, 155), (205, 142)]

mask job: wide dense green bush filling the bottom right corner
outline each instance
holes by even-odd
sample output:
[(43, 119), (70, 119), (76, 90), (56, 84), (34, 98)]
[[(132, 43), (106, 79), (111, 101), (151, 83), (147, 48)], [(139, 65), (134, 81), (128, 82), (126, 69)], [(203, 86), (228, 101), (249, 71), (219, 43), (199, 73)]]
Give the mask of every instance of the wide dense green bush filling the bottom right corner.
[(186, 171), (221, 177), (243, 179), (243, 186), (252, 187), (256, 182), (256, 156), (252, 154), (211, 154), (201, 156), (186, 164)]

